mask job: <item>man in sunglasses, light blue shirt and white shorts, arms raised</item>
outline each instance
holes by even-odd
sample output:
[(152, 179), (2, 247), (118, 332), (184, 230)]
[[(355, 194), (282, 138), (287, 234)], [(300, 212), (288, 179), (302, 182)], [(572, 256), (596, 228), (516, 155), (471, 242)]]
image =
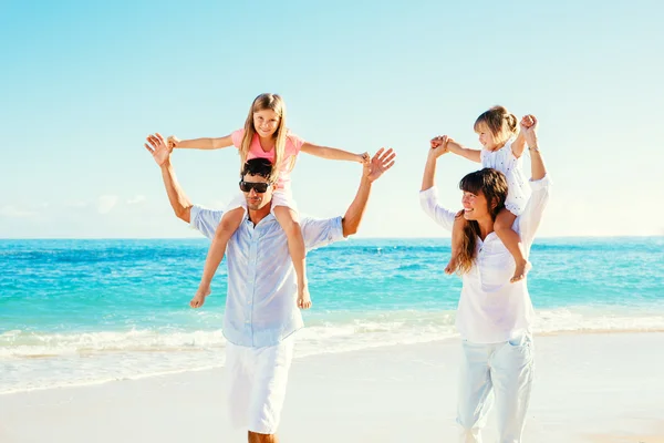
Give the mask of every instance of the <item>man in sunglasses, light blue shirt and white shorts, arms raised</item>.
[[(159, 134), (145, 145), (162, 169), (162, 178), (175, 215), (209, 239), (222, 210), (193, 205), (175, 178), (170, 151)], [(357, 231), (373, 182), (394, 164), (392, 150), (380, 150), (364, 165), (355, 198), (343, 217), (300, 220), (308, 249), (343, 239)], [(226, 372), (229, 380), (228, 409), (236, 426), (249, 429), (249, 443), (278, 442), (277, 427), (286, 395), (294, 332), (303, 327), (295, 306), (295, 272), (281, 226), (270, 214), (274, 183), (272, 165), (264, 158), (245, 164), (240, 189), (247, 214), (228, 241), (228, 293), (224, 317)], [(203, 306), (205, 298), (191, 300)]]

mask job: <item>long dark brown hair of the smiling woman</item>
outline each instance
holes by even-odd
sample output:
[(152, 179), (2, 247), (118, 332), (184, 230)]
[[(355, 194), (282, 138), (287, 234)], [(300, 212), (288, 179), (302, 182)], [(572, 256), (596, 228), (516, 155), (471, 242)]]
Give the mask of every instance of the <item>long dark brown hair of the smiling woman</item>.
[[(487, 198), (487, 209), (491, 219), (505, 207), (507, 198), (507, 178), (500, 171), (485, 167), (466, 175), (459, 182), (459, 189), (473, 194), (483, 194)], [(494, 206), (495, 205), (495, 206)], [(463, 215), (460, 215), (463, 217)], [(473, 267), (475, 260), (475, 249), (477, 247), (477, 237), (479, 237), (479, 224), (476, 220), (466, 220), (464, 225), (464, 237), (461, 239), (461, 249), (457, 259), (456, 271), (465, 274)]]

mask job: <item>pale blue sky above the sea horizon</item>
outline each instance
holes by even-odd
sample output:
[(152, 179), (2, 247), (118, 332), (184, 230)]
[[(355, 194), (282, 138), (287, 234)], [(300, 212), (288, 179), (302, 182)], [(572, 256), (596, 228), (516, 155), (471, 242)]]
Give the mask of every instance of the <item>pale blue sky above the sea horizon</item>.
[[(419, 208), (428, 140), (479, 147), (495, 104), (540, 121), (541, 236), (664, 235), (663, 4), (0, 0), (0, 238), (197, 237), (144, 140), (227, 135), (263, 92), (307, 141), (397, 152), (359, 236), (448, 236)], [(237, 193), (232, 147), (173, 164), (197, 204)], [(444, 206), (478, 166), (440, 158)], [(301, 154), (300, 210), (342, 215), (360, 175)]]

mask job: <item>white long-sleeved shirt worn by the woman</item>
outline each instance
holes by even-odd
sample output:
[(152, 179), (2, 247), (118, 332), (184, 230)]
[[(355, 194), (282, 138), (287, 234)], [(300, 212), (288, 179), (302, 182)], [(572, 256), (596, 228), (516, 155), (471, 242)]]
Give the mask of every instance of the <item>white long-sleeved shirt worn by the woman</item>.
[[(526, 257), (547, 203), (551, 181), (530, 182), (532, 194), (512, 229), (521, 237)], [(438, 225), (452, 230), (457, 212), (438, 204), (438, 190), (432, 187), (419, 193), (424, 212)], [(496, 233), (477, 239), (477, 253), (470, 271), (463, 276), (461, 297), (456, 327), (463, 338), (476, 343), (498, 343), (510, 340), (529, 329), (535, 317), (527, 279), (509, 282), (515, 259)]]

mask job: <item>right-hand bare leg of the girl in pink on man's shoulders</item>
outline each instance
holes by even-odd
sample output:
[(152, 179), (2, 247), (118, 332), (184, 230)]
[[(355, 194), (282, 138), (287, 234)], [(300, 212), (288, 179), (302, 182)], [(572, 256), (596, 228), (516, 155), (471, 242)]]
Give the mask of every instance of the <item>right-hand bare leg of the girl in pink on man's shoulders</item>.
[(298, 276), (298, 308), (309, 309), (311, 308), (311, 297), (309, 296), (309, 281), (307, 280), (307, 253), (298, 214), (288, 206), (277, 206), (273, 210), (274, 217), (277, 217), (288, 238), (288, 250)]

